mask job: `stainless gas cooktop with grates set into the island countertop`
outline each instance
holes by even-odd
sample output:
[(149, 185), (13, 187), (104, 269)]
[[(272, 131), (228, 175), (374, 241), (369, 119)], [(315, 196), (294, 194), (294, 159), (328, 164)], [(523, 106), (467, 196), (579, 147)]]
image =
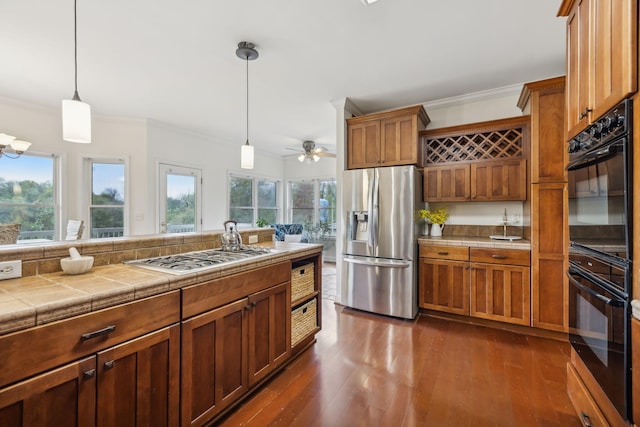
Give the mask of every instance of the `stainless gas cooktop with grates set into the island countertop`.
[(268, 255), (270, 253), (271, 250), (269, 248), (243, 246), (237, 251), (210, 249), (206, 251), (125, 261), (124, 263), (150, 270), (162, 271), (164, 273), (187, 274), (242, 261), (247, 258)]

